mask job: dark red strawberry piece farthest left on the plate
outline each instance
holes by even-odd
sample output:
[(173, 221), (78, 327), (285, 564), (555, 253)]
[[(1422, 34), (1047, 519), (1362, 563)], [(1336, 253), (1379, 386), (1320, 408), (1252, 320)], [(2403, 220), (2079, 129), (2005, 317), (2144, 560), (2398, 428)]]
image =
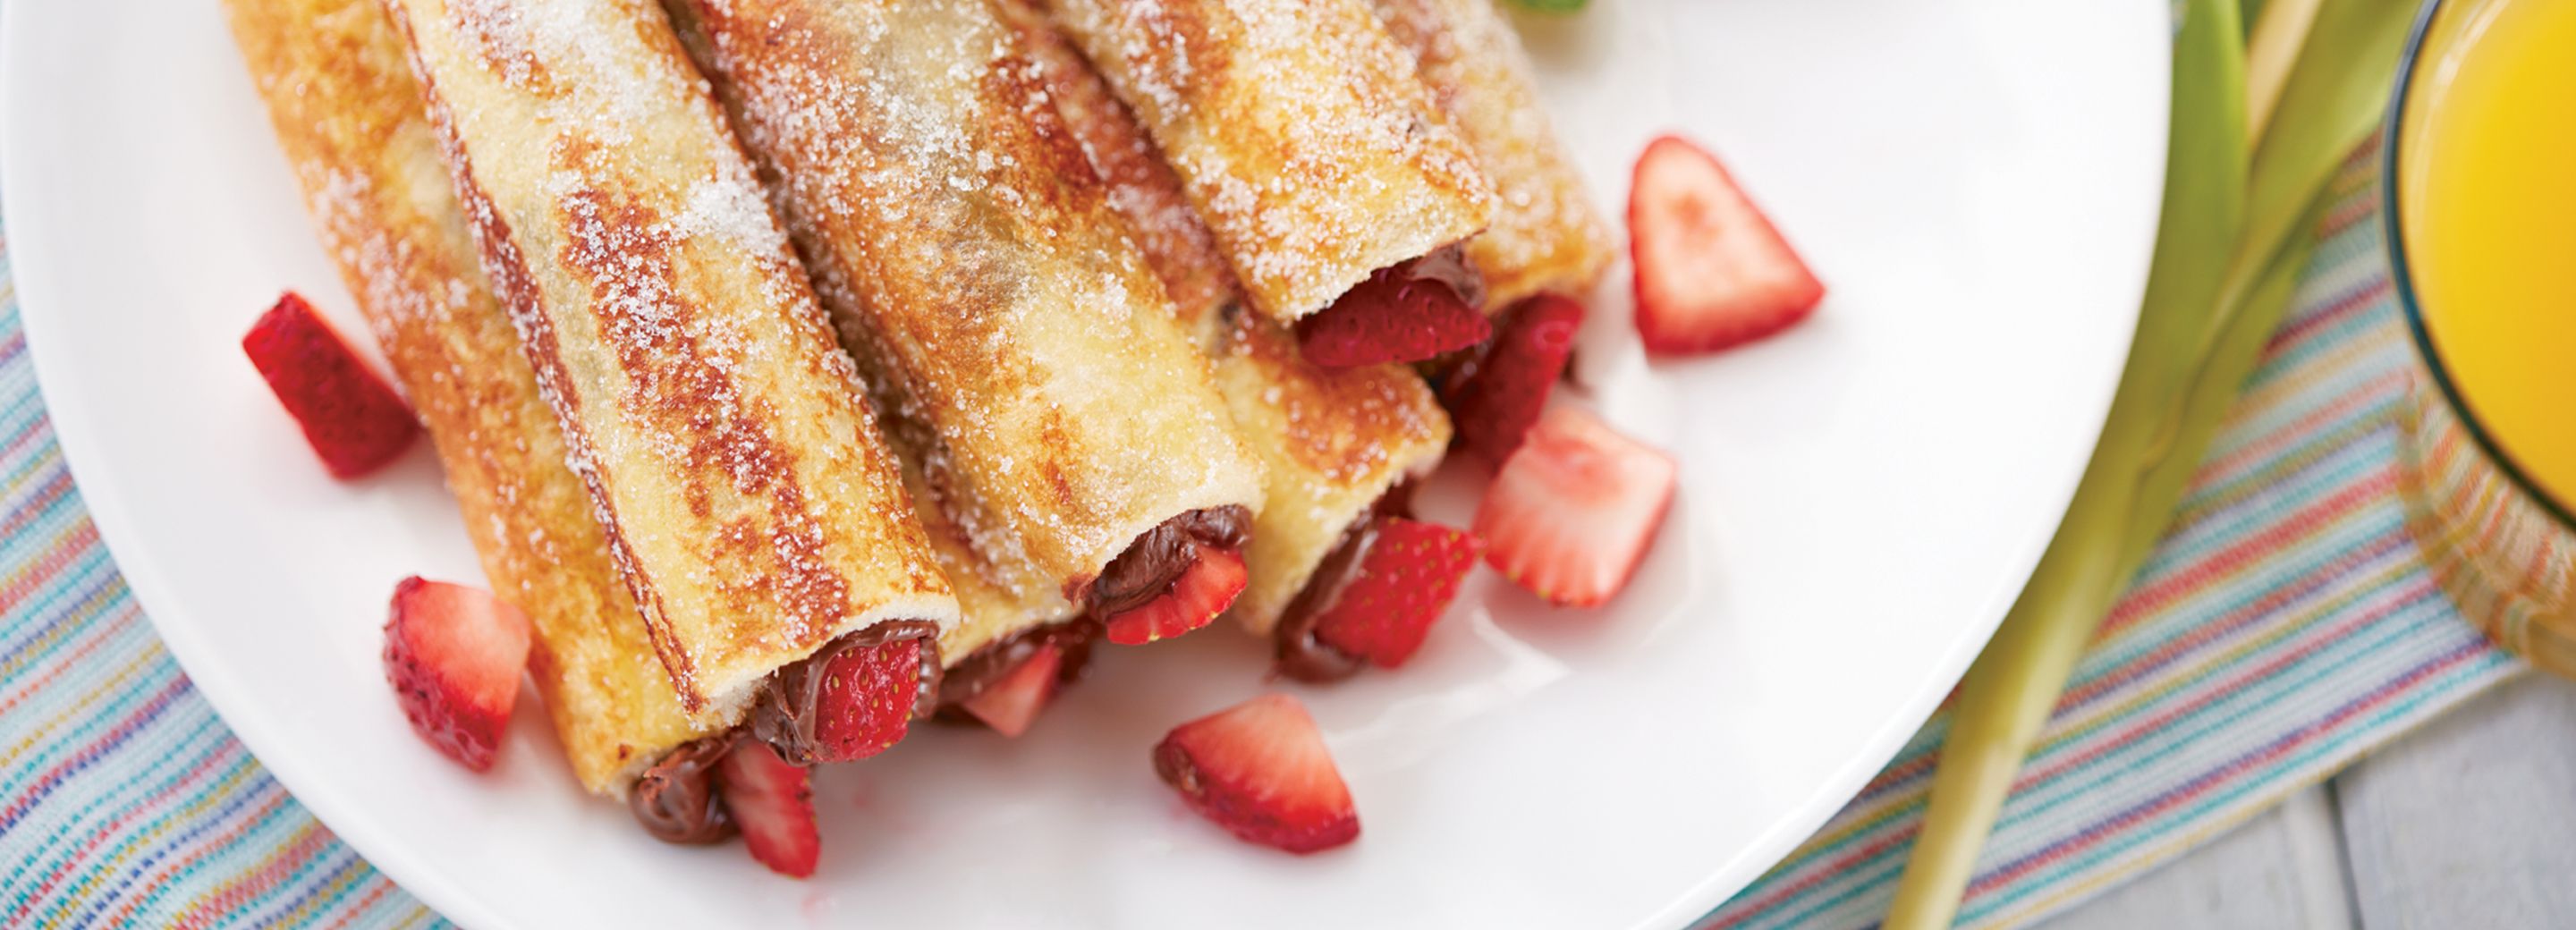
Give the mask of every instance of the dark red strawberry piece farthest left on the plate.
[(420, 435), (412, 407), (296, 294), (250, 325), (242, 353), (337, 479), (381, 469)]

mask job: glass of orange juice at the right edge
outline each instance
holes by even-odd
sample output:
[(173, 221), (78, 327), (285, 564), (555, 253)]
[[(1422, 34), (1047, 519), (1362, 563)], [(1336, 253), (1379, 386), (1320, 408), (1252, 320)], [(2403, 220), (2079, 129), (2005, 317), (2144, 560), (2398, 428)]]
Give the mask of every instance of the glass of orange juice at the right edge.
[(2576, 675), (2576, 0), (2432, 0), (2398, 75), (2409, 528), (2470, 621)]

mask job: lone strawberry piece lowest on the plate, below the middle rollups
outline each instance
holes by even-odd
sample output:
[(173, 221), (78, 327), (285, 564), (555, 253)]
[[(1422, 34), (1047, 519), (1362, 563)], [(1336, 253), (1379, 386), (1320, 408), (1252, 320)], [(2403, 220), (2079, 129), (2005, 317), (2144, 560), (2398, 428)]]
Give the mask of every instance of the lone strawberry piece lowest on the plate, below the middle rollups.
[(1154, 747), (1154, 773), (1244, 842), (1314, 853), (1360, 837), (1360, 811), (1324, 734), (1283, 693), (1172, 726)]

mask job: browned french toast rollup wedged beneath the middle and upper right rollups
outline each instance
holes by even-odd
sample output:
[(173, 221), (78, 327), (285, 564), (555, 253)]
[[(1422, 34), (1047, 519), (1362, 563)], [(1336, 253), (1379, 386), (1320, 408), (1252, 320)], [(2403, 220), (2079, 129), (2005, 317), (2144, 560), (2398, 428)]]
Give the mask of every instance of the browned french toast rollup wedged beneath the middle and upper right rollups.
[[(1450, 420), (1409, 366), (1321, 368), (1298, 356), (1278, 322), (1244, 312), (1234, 273), (1180, 178), (1100, 75), (1030, 5), (1002, 0), (1048, 95), (1092, 170), (1110, 185), (1146, 263), (1164, 281), (1182, 325), (1216, 363), (1218, 392), (1244, 443), (1267, 466), (1267, 505), (1252, 520), (1252, 585), (1234, 603), (1249, 631), (1270, 636), (1280, 670), (1342, 678), (1358, 660), (1314, 639), (1311, 603), (1337, 551), (1368, 518), (1401, 510), (1401, 484), (1430, 474), (1450, 443)], [(1306, 608), (1306, 611), (1298, 611)]]

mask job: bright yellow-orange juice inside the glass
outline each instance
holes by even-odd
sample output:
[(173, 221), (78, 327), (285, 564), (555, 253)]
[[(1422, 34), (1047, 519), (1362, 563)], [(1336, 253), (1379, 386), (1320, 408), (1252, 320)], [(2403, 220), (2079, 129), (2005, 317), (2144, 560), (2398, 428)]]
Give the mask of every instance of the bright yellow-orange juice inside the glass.
[[(2576, 508), (2576, 3), (2450, 0), (2416, 62), (2398, 216), (2434, 361)], [(2458, 26), (2450, 26), (2458, 23)]]

